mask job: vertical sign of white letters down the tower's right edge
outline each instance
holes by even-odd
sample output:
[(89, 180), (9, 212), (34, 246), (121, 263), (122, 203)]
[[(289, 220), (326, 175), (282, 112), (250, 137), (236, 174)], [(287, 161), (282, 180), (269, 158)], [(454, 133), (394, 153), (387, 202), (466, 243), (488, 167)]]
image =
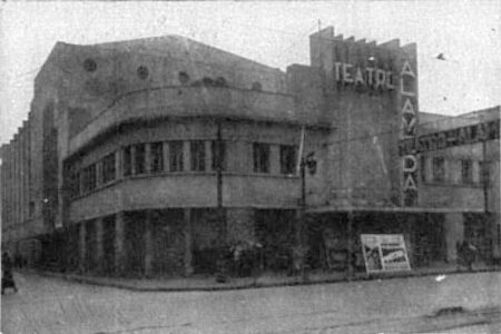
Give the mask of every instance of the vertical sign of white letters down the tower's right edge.
[[(416, 75), (411, 63), (405, 60), (400, 72), (400, 95), (401, 95), (401, 139), (415, 140), (418, 127), (416, 108)], [(414, 206), (418, 202), (418, 160), (415, 151), (410, 151), (402, 157), (403, 173), (403, 205)]]

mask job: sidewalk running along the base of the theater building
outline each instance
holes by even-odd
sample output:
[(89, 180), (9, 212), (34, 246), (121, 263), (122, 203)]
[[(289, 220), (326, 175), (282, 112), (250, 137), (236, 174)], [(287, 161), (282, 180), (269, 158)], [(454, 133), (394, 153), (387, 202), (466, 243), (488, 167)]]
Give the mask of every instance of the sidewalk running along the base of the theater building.
[[(501, 271), (501, 266), (488, 266), (484, 264), (477, 264), (473, 272), (497, 272)], [(257, 287), (276, 287), (276, 286), (292, 286), (292, 285), (311, 285), (324, 283), (341, 283), (347, 282), (345, 272), (325, 272), (315, 271), (308, 272), (305, 277), (286, 276), (283, 273), (263, 273), (258, 277), (228, 277), (225, 283), (217, 283), (215, 276), (194, 275), (186, 277), (169, 277), (169, 278), (120, 278), (120, 277), (102, 277), (91, 275), (63, 274), (46, 271), (28, 272), (50, 277), (58, 277), (71, 282), (85, 283), (90, 285), (109, 286), (117, 288), (125, 288), (138, 292), (184, 292), (184, 291), (225, 291), (225, 289), (242, 289), (242, 288), (257, 288)], [(400, 273), (384, 273), (372, 274), (354, 273), (350, 281), (366, 281), (366, 279), (390, 279), (418, 277), (426, 275), (443, 275), (443, 274), (459, 274), (471, 273), (464, 268), (458, 268), (454, 264), (441, 264), (425, 268), (414, 268), (411, 272)]]

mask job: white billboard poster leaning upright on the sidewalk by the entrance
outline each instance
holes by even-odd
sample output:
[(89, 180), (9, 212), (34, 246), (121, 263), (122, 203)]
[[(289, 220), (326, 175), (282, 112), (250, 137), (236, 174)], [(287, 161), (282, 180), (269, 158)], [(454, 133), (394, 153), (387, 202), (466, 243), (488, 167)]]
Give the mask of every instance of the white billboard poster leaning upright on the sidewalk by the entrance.
[(405, 240), (401, 234), (362, 234), (367, 273), (410, 271)]

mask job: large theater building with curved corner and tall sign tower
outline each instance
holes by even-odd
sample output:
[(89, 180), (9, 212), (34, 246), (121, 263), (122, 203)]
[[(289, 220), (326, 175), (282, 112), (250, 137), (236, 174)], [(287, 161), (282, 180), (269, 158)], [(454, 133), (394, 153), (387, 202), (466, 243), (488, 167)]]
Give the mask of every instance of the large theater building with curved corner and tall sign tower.
[(212, 273), (238, 242), (279, 269), (299, 235), (312, 267), (342, 267), (362, 233), (403, 234), (413, 266), (452, 259), (468, 224), (420, 171), (415, 45), (333, 28), (310, 43), (311, 65), (282, 71), (176, 36), (58, 42), (1, 149), (2, 243), (147, 276)]

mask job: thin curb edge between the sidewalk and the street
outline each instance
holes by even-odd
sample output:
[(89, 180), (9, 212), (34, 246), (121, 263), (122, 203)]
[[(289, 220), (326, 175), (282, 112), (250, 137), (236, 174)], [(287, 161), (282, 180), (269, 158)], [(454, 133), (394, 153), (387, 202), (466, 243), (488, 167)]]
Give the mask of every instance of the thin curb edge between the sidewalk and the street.
[[(413, 277), (424, 277), (434, 275), (452, 275), (452, 274), (477, 274), (477, 273), (489, 273), (489, 272), (501, 272), (501, 268), (482, 268), (475, 269), (473, 272), (464, 271), (436, 271), (428, 273), (411, 273), (411, 274), (380, 274), (380, 275), (366, 275), (360, 277), (353, 277), (352, 279), (344, 278), (326, 278), (326, 279), (315, 279), (315, 281), (295, 281), (295, 282), (276, 282), (276, 283), (250, 283), (242, 285), (217, 285), (214, 283), (210, 286), (194, 286), (194, 287), (161, 287), (161, 286), (134, 286), (127, 283), (118, 282), (100, 282), (99, 278), (86, 277), (86, 276), (75, 276), (71, 274), (60, 274), (47, 271), (38, 269), (22, 269), (20, 272), (28, 272), (30, 274), (36, 274), (46, 277), (56, 277), (69, 282), (76, 282), (81, 284), (95, 285), (95, 286), (107, 286), (120, 289), (128, 289), (132, 292), (217, 292), (217, 291), (237, 291), (237, 289), (250, 289), (250, 288), (266, 288), (266, 287), (286, 287), (286, 286), (298, 286), (298, 285), (318, 285), (318, 284), (337, 284), (337, 283), (348, 283), (348, 282), (363, 282), (363, 281), (381, 281), (381, 279), (396, 279), (396, 278), (413, 278)], [(189, 278), (188, 278), (189, 279)]]

